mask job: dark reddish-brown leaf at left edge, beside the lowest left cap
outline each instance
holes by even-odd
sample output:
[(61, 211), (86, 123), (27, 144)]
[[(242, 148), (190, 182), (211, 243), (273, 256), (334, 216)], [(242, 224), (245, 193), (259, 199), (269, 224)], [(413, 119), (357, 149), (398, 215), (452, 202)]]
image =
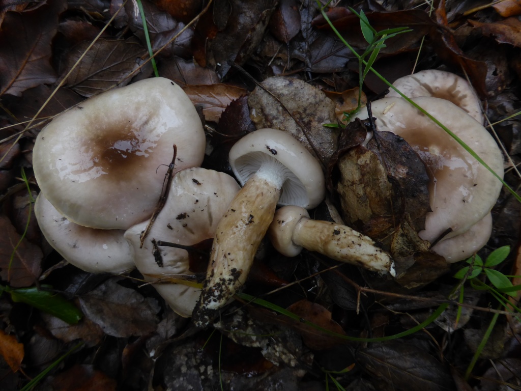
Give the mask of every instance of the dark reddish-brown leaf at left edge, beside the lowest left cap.
[(13, 288), (33, 285), (42, 273), (40, 266), (43, 258), (42, 250), (26, 239), (22, 239), (11, 263), (11, 254), (21, 236), (5, 216), (0, 216), (0, 232), (3, 233), (0, 235), (0, 267), (2, 268), (0, 276)]

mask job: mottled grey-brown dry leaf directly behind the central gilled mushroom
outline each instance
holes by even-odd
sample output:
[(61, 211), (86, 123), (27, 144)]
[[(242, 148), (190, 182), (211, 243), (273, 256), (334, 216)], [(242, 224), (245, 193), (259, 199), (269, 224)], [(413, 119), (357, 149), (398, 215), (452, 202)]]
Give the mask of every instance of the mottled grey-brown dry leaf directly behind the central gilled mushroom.
[(270, 77), (250, 94), (250, 115), (257, 129), (290, 133), (324, 165), (336, 150), (338, 132), (325, 124), (336, 122), (335, 104), (305, 81)]

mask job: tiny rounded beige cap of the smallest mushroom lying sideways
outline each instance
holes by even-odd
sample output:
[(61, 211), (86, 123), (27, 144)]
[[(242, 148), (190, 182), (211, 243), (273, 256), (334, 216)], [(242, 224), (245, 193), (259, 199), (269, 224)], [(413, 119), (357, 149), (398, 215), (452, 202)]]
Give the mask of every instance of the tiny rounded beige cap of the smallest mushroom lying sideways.
[(271, 244), (282, 255), (297, 256), (302, 251), (302, 246), (296, 246), (293, 242), (295, 227), (303, 217), (309, 218), (309, 213), (300, 206), (287, 205), (275, 212), (274, 223), (268, 228), (268, 237)]

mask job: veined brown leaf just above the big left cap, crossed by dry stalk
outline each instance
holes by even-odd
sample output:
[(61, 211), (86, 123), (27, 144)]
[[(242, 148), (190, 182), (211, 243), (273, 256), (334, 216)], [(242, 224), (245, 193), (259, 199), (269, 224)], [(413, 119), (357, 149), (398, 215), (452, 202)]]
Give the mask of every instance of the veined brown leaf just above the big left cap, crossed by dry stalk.
[[(90, 42), (74, 47), (61, 67), (66, 74), (84, 53)], [(100, 38), (69, 76), (66, 86), (82, 96), (89, 97), (114, 85), (126, 85), (127, 77), (138, 68), (138, 59), (145, 49), (134, 39), (108, 40)]]

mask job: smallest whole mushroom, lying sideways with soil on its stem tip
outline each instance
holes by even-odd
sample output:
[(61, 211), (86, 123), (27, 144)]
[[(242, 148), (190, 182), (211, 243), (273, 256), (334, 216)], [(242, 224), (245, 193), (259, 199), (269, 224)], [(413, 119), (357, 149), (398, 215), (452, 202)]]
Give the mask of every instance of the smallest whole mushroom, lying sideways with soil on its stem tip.
[(300, 206), (282, 206), (277, 210), (268, 237), (275, 249), (286, 256), (296, 256), (305, 248), (374, 272), (394, 272), (391, 257), (376, 247), (373, 239), (345, 225), (313, 220)]

